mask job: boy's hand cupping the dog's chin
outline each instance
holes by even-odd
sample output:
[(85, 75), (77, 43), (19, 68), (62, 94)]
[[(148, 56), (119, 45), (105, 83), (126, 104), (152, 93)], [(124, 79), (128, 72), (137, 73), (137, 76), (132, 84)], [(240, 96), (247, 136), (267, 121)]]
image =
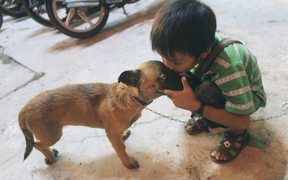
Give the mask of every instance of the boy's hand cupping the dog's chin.
[(195, 94), (192, 88), (189, 86), (186, 77), (182, 77), (182, 84), (184, 87), (183, 90), (180, 91), (160, 90), (160, 92), (166, 94), (167, 97), (169, 97), (169, 99), (173, 101), (176, 107), (179, 107), (184, 110), (189, 110), (191, 112), (198, 110), (201, 103), (195, 97)]

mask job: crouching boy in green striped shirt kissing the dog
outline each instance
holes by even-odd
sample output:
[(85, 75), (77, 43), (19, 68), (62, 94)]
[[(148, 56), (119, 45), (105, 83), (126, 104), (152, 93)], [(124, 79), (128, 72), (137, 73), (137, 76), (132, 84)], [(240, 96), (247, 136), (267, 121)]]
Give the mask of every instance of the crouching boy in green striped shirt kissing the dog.
[(226, 163), (235, 159), (248, 143), (250, 114), (265, 107), (266, 94), (256, 57), (241, 43), (228, 45), (208, 72), (201, 72), (211, 49), (224, 39), (215, 36), (215, 31), (215, 14), (208, 5), (197, 0), (173, 0), (160, 8), (150, 40), (152, 49), (167, 67), (186, 75), (204, 74), (195, 91), (182, 77), (182, 91), (161, 92), (176, 107), (192, 112), (184, 125), (187, 133), (226, 131), (211, 151), (213, 161)]

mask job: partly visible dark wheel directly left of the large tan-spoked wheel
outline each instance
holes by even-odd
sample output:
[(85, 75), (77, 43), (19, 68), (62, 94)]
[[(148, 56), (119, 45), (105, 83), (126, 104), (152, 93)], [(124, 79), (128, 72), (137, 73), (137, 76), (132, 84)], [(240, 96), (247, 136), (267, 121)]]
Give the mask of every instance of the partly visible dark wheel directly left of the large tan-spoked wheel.
[(23, 8), (36, 22), (47, 27), (53, 27), (46, 11), (45, 0), (22, 0)]

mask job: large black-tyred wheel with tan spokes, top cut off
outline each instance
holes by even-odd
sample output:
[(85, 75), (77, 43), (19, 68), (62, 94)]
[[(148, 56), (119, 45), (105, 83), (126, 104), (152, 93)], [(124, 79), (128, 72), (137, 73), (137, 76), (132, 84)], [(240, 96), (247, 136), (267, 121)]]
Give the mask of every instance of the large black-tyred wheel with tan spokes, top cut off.
[(106, 5), (67, 8), (65, 0), (46, 2), (51, 23), (63, 34), (73, 38), (88, 38), (97, 34), (106, 24), (109, 10)]

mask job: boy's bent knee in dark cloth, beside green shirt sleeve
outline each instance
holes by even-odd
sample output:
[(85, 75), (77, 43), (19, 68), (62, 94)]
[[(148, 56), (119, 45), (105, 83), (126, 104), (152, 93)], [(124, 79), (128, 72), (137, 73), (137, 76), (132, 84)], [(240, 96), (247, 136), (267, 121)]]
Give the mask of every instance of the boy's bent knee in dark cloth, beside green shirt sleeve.
[(195, 90), (197, 99), (214, 107), (224, 108), (225, 99), (214, 81), (204, 81)]

